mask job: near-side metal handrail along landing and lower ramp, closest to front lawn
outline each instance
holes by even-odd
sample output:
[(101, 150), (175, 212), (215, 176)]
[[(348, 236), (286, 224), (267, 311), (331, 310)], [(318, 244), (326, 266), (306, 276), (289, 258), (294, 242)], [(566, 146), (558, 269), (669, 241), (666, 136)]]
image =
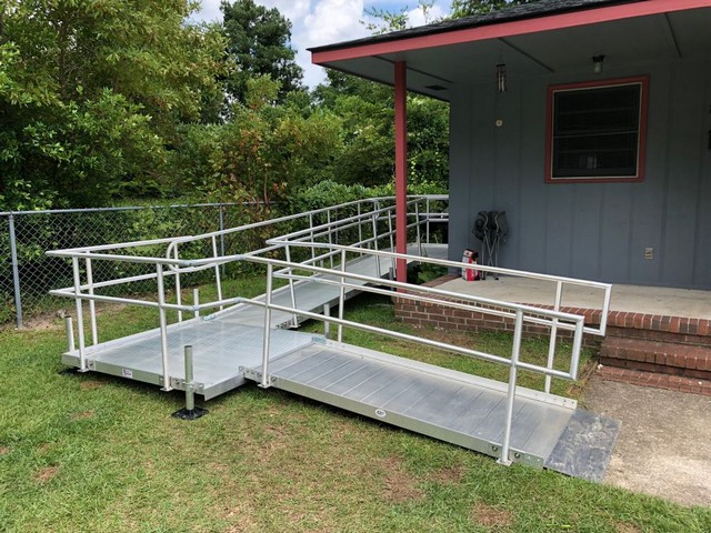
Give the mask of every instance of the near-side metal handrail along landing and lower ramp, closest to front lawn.
[[(310, 243), (300, 243), (301, 245), (313, 245)], [(499, 462), (503, 464), (510, 464), (511, 460), (509, 457), (510, 451), (510, 435), (511, 435), (511, 423), (513, 420), (513, 411), (514, 411), (514, 401), (517, 396), (517, 386), (518, 386), (518, 373), (519, 370), (527, 370), (537, 373), (541, 373), (547, 376), (555, 376), (568, 380), (575, 380), (578, 375), (578, 366), (579, 366), (579, 358), (580, 350), (582, 345), (582, 335), (584, 331), (584, 316), (574, 315), (570, 313), (562, 313), (559, 311), (544, 310), (539, 308), (532, 308), (522, 304), (501, 302), (490, 299), (482, 299), (478, 296), (468, 296), (462, 294), (455, 294), (448, 291), (439, 290), (437, 288), (428, 288), (422, 285), (411, 285), (407, 283), (401, 283), (391, 279), (379, 279), (372, 275), (357, 274), (353, 272), (349, 272), (347, 270), (348, 261), (347, 254), (352, 247), (337, 245), (337, 244), (320, 244), (320, 247), (330, 248), (331, 250), (336, 250), (340, 253), (340, 261), (338, 268), (327, 268), (327, 266), (317, 266), (313, 264), (303, 264), (296, 263), (280, 259), (273, 259), (266, 255), (256, 255), (256, 254), (242, 254), (234, 257), (224, 257), (219, 258), (218, 260), (210, 258), (203, 260), (176, 260), (176, 259), (163, 259), (163, 258), (152, 258), (156, 260), (157, 264), (157, 280), (159, 284), (159, 293), (157, 302), (146, 302), (146, 301), (131, 301), (131, 299), (118, 298), (118, 296), (106, 296), (99, 295), (96, 293), (94, 289), (98, 284), (93, 286), (89, 283), (80, 284), (79, 275), (76, 276), (76, 285), (64, 291), (57, 291), (57, 294), (60, 295), (70, 295), (74, 296), (79, 302), (78, 305), (81, 305), (81, 300), (88, 300), (89, 302), (94, 301), (123, 301), (130, 303), (137, 303), (142, 305), (150, 305), (158, 308), (160, 313), (160, 335), (161, 335), (161, 351), (163, 354), (162, 364), (163, 364), (163, 373), (164, 373), (164, 390), (170, 390), (170, 370), (168, 368), (168, 358), (167, 358), (167, 324), (166, 324), (166, 311), (167, 310), (176, 310), (183, 312), (199, 312), (201, 310), (207, 309), (216, 309), (221, 308), (223, 305), (229, 305), (233, 303), (246, 303), (251, 305), (259, 305), (264, 309), (264, 329), (263, 329), (263, 356), (262, 356), (262, 374), (261, 382), (262, 386), (270, 386), (270, 376), (269, 376), (269, 353), (270, 353), (270, 336), (271, 336), (271, 328), (270, 328), (270, 319), (271, 313), (273, 311), (283, 311), (287, 313), (300, 314), (310, 319), (320, 320), (323, 322), (328, 322), (331, 324), (336, 324), (338, 326), (338, 340), (342, 341), (342, 331), (343, 328), (354, 328), (364, 331), (369, 331), (371, 333), (379, 333), (383, 335), (389, 335), (395, 339), (401, 339), (405, 341), (411, 341), (413, 343), (448, 350), (452, 353), (462, 354), (467, 356), (472, 356), (477, 359), (481, 359), (484, 361), (499, 363), (509, 366), (509, 379), (508, 379), (508, 390), (507, 390), (507, 402), (505, 402), (505, 420), (503, 422), (503, 440), (501, 443), (501, 455), (499, 457)], [(359, 253), (371, 253), (374, 255), (384, 255), (390, 259), (395, 260), (419, 260), (419, 261), (434, 261), (428, 258), (407, 255), (407, 254), (398, 254), (393, 252), (387, 251), (375, 251), (375, 250), (362, 250), (357, 249)], [(87, 260), (88, 255), (92, 255), (90, 252), (68, 252), (72, 257), (72, 261), (74, 264), (79, 262), (79, 257), (84, 255), (83, 259)], [(99, 257), (101, 259), (106, 259), (106, 254), (93, 254), (94, 258)], [(136, 257), (114, 257), (116, 259), (123, 259), (127, 261), (148, 261), (151, 258), (136, 258)], [(168, 303), (164, 298), (164, 276), (163, 276), (163, 268), (164, 266), (174, 266), (174, 268), (193, 268), (193, 266), (204, 266), (204, 265), (214, 265), (219, 262), (224, 261), (249, 261), (252, 263), (263, 264), (267, 266), (267, 293), (264, 300), (259, 299), (243, 299), (243, 298), (232, 298), (232, 299), (222, 299), (219, 298), (212, 302), (206, 302), (194, 305), (186, 305), (179, 303)], [(461, 266), (461, 263), (453, 261), (444, 261), (438, 260), (439, 264), (450, 265), (450, 266)], [(298, 308), (298, 305), (288, 306), (288, 305), (278, 305), (272, 302), (272, 293), (273, 293), (273, 279), (274, 279), (274, 269), (281, 269), (282, 272), (292, 272), (294, 270), (311, 272), (313, 275), (310, 278), (311, 281), (317, 283), (328, 283), (328, 284), (337, 284), (340, 289), (340, 298), (338, 303), (338, 316), (324, 316), (318, 313), (304, 311)], [(78, 270), (76, 270), (78, 272)], [(290, 275), (294, 278), (301, 278), (302, 274), (283, 274)], [(358, 283), (358, 285), (356, 285)], [(364, 284), (362, 284), (364, 283)], [(415, 301), (427, 301), (432, 303), (442, 304), (445, 306), (451, 306), (453, 309), (459, 310), (477, 310), (479, 312), (483, 312), (485, 314), (492, 314), (495, 316), (512, 316), (514, 320), (514, 330), (513, 330), (513, 344), (511, 349), (510, 356), (495, 355), (478, 350), (472, 350), (463, 346), (459, 346), (455, 344), (433, 341), (429, 339), (424, 339), (422, 336), (412, 335), (408, 333), (401, 333), (398, 331), (373, 326), (370, 324), (360, 323), (357, 321), (348, 320), (344, 318), (344, 290), (347, 286), (358, 286), (360, 290), (379, 293), (379, 294), (393, 294), (392, 290), (398, 290), (398, 298), (404, 298)], [(84, 292), (86, 291), (86, 292)], [(454, 301), (455, 300), (455, 301)], [(495, 309), (491, 309), (495, 308)], [(78, 306), (78, 319), (81, 315), (81, 308)], [(79, 321), (78, 321), (79, 322)], [(552, 326), (555, 323), (558, 329), (572, 331), (573, 341), (571, 346), (571, 354), (569, 364), (565, 370), (558, 370), (549, 366), (543, 366), (539, 364), (534, 364), (531, 362), (521, 360), (521, 336), (523, 331), (523, 324), (525, 322), (547, 325), (552, 331)], [(81, 353), (84, 340), (82, 336), (83, 325), (79, 322), (79, 350)], [(554, 342), (554, 339), (552, 339)]]

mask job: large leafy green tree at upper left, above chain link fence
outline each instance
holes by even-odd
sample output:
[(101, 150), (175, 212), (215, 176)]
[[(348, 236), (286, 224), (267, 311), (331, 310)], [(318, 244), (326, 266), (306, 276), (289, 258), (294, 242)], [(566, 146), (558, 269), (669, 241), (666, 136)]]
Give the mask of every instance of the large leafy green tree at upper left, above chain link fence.
[(214, 94), (223, 43), (172, 1), (0, 8), (0, 205), (100, 204), (157, 191), (164, 144)]

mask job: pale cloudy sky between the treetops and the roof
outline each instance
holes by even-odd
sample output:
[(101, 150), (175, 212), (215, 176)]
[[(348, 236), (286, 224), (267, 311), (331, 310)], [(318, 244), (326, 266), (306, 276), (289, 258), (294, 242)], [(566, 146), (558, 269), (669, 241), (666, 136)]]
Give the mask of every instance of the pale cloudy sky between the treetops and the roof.
[[(193, 20), (220, 21), (220, 0), (201, 0), (202, 9)], [(408, 9), (410, 27), (425, 23), (417, 9), (418, 0), (256, 0), (256, 3), (277, 8), (291, 21), (291, 47), (297, 50), (297, 62), (303, 69), (303, 82), (313, 88), (326, 79), (321, 67), (311, 64), (308, 48), (368, 37), (370, 32), (360, 21), (365, 20), (364, 10), (377, 8), (392, 12)], [(430, 10), (431, 19), (448, 13), (450, 0), (437, 0)], [(431, 20), (430, 19), (430, 20)]]

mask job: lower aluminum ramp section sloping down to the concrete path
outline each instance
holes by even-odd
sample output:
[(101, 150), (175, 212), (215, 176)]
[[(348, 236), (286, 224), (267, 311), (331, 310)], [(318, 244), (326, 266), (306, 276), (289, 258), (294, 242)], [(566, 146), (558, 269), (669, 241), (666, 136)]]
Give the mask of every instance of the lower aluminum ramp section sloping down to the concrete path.
[[(269, 372), (276, 389), (500, 456), (507, 399), (500, 382), (329, 341), (274, 359)], [(261, 381), (261, 366), (246, 370), (246, 376)], [(597, 479), (588, 474), (599, 470), (599, 454), (585, 449), (589, 442), (571, 440), (594, 431), (575, 416), (575, 406), (572, 400), (519, 388), (510, 460)], [(563, 450), (578, 451), (577, 470), (570, 461), (551, 460), (562, 435), (568, 438)], [(585, 457), (595, 464), (585, 464)]]

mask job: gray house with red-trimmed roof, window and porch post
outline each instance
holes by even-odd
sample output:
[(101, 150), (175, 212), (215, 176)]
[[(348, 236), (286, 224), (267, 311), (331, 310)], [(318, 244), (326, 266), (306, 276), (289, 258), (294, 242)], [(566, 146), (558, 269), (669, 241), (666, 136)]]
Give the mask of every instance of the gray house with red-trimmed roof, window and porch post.
[(450, 103), (450, 259), (498, 210), (502, 266), (711, 289), (711, 0), (542, 0), (311, 51), (394, 86), (401, 207), (405, 91)]

